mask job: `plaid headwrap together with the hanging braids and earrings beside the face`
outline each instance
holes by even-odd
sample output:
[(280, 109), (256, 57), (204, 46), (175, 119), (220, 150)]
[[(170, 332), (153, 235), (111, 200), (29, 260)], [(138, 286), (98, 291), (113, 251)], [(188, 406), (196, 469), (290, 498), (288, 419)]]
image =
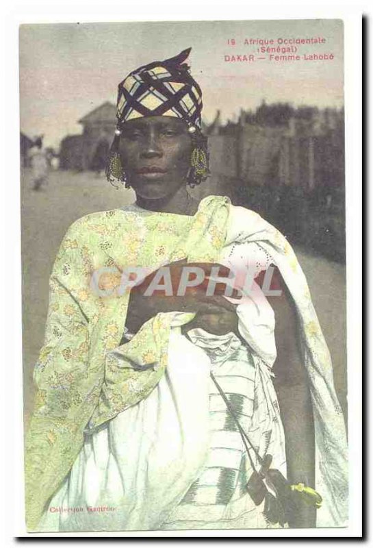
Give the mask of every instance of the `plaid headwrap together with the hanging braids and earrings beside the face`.
[(188, 184), (193, 187), (209, 176), (207, 138), (201, 132), (202, 91), (184, 62), (191, 49), (184, 49), (170, 59), (140, 66), (120, 82), (116, 105), (118, 122), (106, 166), (107, 180), (117, 188), (117, 183), (130, 186), (119, 153), (123, 124), (144, 116), (172, 116), (185, 121), (193, 145)]

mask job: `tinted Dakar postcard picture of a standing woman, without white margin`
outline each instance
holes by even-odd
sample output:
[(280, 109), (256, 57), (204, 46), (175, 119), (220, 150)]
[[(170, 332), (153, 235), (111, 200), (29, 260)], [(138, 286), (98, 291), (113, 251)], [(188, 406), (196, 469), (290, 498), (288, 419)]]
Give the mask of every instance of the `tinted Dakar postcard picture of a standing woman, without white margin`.
[(347, 527), (343, 21), (19, 48), (27, 532)]

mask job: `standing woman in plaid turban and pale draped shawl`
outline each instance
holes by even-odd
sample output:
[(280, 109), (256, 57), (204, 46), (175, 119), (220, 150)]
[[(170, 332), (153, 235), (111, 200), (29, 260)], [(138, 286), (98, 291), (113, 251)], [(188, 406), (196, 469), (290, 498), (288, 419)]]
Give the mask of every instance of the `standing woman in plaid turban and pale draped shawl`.
[(107, 175), (136, 203), (79, 219), (57, 254), (29, 530), (316, 526), (289, 484), (320, 492), (317, 525), (346, 520), (344, 421), (294, 253), (254, 212), (188, 194), (208, 174), (189, 52), (119, 85)]

